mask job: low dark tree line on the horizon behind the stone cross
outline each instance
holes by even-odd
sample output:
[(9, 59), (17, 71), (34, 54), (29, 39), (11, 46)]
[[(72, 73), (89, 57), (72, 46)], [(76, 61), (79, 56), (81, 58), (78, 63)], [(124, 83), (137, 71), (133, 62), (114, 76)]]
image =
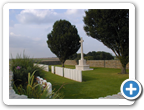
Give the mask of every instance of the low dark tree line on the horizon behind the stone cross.
[[(78, 61), (80, 58), (81, 58), (81, 53), (75, 53), (71, 55), (68, 59)], [(88, 52), (87, 54), (84, 54), (84, 59), (85, 60), (113, 60), (114, 57), (110, 53), (107, 53), (107, 52), (92, 51), (92, 52)]]

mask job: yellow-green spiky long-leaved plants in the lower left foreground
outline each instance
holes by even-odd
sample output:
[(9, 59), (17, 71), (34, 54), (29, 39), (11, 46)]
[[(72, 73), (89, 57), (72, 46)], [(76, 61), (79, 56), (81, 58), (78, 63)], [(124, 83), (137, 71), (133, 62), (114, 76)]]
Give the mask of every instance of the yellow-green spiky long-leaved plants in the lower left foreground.
[(28, 73), (28, 83), (26, 89), (23, 89), (21, 85), (18, 87), (14, 85), (14, 90), (17, 94), (24, 94), (27, 95), (28, 98), (36, 98), (36, 99), (55, 99), (55, 98), (62, 98), (61, 95), (57, 92), (52, 92), (51, 94), (48, 93), (47, 87), (43, 89), (42, 85), (37, 84), (34, 82), (34, 74), (36, 71), (32, 73)]

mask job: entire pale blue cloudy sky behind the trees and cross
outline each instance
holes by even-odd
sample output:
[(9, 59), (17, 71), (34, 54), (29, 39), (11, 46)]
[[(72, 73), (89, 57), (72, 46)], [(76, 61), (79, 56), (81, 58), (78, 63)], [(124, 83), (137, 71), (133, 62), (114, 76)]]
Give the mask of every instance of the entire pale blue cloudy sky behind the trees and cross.
[[(56, 57), (47, 46), (47, 34), (55, 21), (65, 19), (75, 25), (83, 37), (84, 53), (111, 49), (103, 43), (88, 37), (83, 29), (83, 16), (87, 9), (10, 9), (9, 10), (9, 57), (23, 53), (33, 58)], [(80, 53), (80, 49), (77, 51)]]

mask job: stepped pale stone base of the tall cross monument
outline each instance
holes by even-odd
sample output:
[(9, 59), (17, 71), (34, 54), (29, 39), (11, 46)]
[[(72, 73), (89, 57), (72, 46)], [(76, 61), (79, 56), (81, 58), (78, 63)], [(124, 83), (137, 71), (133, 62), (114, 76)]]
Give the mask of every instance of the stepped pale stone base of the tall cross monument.
[(82, 71), (87, 71), (87, 70), (93, 70), (89, 68), (89, 65), (86, 65), (86, 60), (79, 60), (79, 65), (76, 65), (76, 70), (82, 70)]

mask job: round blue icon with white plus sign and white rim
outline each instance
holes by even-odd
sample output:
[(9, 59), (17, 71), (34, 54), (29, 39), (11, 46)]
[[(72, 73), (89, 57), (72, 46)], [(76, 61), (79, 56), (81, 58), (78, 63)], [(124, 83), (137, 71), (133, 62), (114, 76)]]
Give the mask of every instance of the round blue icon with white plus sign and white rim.
[(121, 85), (121, 93), (127, 99), (136, 99), (141, 93), (141, 85), (137, 80), (125, 80)]

